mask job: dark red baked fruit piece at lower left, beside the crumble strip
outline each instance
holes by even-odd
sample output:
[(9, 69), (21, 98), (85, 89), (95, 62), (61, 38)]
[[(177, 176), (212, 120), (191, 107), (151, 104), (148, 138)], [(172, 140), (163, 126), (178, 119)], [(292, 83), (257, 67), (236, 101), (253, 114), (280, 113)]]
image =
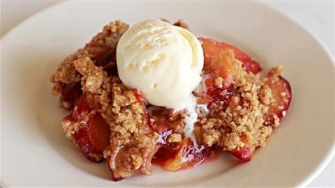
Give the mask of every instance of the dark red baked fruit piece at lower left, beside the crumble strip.
[(72, 136), (75, 145), (91, 162), (101, 162), (103, 150), (110, 143), (110, 126), (94, 108), (90, 98), (82, 95), (72, 113), (63, 119), (63, 125), (77, 127)]

